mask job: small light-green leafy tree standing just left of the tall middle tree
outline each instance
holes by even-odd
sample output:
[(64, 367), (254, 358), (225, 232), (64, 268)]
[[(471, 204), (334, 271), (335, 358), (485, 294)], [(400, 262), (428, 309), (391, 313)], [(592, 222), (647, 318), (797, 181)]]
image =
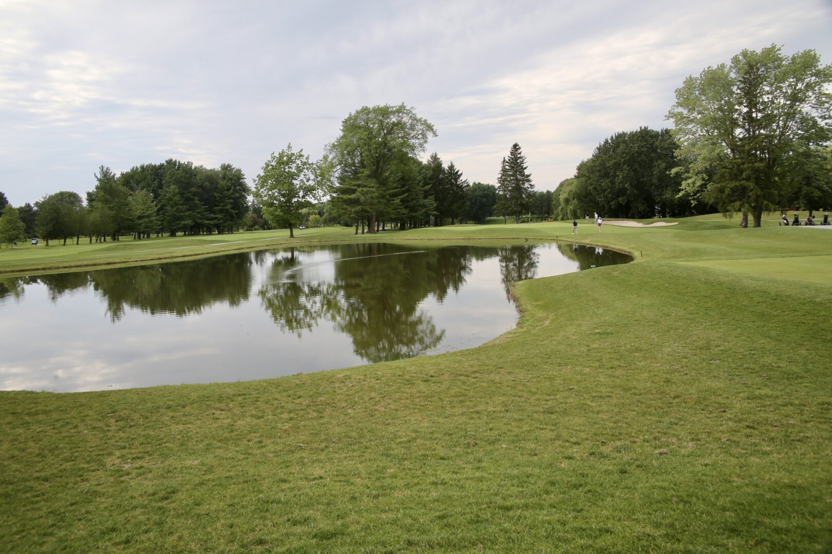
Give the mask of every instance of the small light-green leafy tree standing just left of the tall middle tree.
[(306, 217), (301, 210), (320, 199), (323, 174), (303, 149), (295, 152), (290, 144), (278, 154), (273, 152), (255, 179), (254, 195), (264, 217), (275, 227), (288, 226), (294, 238), (295, 227)]

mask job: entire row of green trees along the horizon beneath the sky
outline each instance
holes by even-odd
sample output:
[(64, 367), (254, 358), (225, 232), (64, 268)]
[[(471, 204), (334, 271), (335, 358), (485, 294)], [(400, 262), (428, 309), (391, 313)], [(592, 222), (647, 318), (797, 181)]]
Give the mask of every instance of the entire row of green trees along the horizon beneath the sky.
[[(312, 161), (289, 145), (263, 166), (253, 201), (245, 175), (230, 164), (206, 169), (168, 159), (116, 176), (102, 166), (87, 205), (59, 191), (9, 211), (2, 228), (17, 237), (131, 233), (233, 233), (236, 229), (340, 223), (355, 233), (472, 221), (494, 214), (523, 218), (682, 217), (719, 211), (749, 214), (832, 207), (832, 66), (813, 50), (784, 56), (772, 45), (743, 50), (730, 63), (689, 76), (666, 115), (673, 129), (618, 132), (603, 140), (553, 191), (536, 191), (515, 143), (492, 184), (426, 150), (436, 130), (414, 108), (364, 106)], [(0, 209), (7, 199), (0, 193)], [(12, 221), (13, 220), (13, 221)]]

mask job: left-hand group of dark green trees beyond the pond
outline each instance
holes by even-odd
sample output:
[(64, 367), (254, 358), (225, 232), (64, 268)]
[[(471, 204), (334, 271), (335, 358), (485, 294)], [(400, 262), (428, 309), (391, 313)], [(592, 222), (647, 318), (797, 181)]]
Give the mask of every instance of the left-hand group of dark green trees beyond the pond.
[[(15, 223), (12, 240), (37, 236), (48, 245), (49, 240), (78, 243), (82, 236), (92, 243), (128, 234), (141, 239), (153, 233), (233, 233), (250, 210), (245, 174), (231, 164), (211, 169), (167, 159), (118, 175), (102, 165), (94, 177), (96, 186), (87, 192), (86, 203), (80, 194), (64, 190), (8, 213), (9, 222), (20, 223)], [(0, 241), (12, 242), (7, 238), (0, 236)]]

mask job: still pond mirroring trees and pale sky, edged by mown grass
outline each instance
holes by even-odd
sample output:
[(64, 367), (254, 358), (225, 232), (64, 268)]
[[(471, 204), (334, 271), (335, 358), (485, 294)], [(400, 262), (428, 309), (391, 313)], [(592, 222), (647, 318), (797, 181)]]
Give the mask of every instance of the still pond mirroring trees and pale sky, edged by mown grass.
[(0, 278), (0, 390), (264, 379), (470, 348), (513, 282), (629, 262), (572, 244), (338, 244)]

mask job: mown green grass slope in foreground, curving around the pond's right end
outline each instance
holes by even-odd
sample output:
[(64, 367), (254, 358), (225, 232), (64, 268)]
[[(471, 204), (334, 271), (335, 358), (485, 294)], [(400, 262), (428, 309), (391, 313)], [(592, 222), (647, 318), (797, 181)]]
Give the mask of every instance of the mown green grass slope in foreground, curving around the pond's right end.
[[(829, 256), (832, 233), (581, 227), (582, 240), (644, 257), (518, 283), (518, 329), (469, 351), (248, 383), (0, 395), (0, 543), (828, 551), (832, 272), (813, 283), (674, 261), (776, 267)], [(813, 310), (782, 316), (795, 306)]]

